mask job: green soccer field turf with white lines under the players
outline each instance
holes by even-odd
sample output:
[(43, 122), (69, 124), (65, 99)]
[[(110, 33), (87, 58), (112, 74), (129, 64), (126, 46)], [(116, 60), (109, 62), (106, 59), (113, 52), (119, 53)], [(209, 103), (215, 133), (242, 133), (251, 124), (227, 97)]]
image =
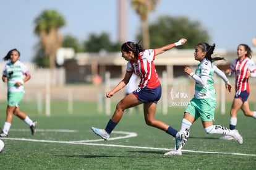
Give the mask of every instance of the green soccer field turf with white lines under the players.
[[(104, 141), (90, 128), (105, 128), (111, 116), (97, 113), (95, 103), (76, 103), (72, 114), (66, 105), (54, 102), (47, 117), (36, 113), (35, 104), (23, 103), (20, 109), (38, 121), (37, 131), (32, 136), (28, 126), (14, 117), (9, 137), (2, 138), (1, 169), (256, 169), (256, 120), (241, 111), (237, 129), (244, 138), (242, 145), (205, 134), (198, 120), (182, 156), (164, 156), (174, 147), (173, 137), (147, 126), (142, 113), (124, 113), (110, 140)], [(6, 104), (0, 106), (2, 127)], [(215, 124), (229, 127), (230, 106), (227, 114), (217, 111)], [(179, 130), (183, 111), (172, 107), (167, 115), (155, 117)]]

